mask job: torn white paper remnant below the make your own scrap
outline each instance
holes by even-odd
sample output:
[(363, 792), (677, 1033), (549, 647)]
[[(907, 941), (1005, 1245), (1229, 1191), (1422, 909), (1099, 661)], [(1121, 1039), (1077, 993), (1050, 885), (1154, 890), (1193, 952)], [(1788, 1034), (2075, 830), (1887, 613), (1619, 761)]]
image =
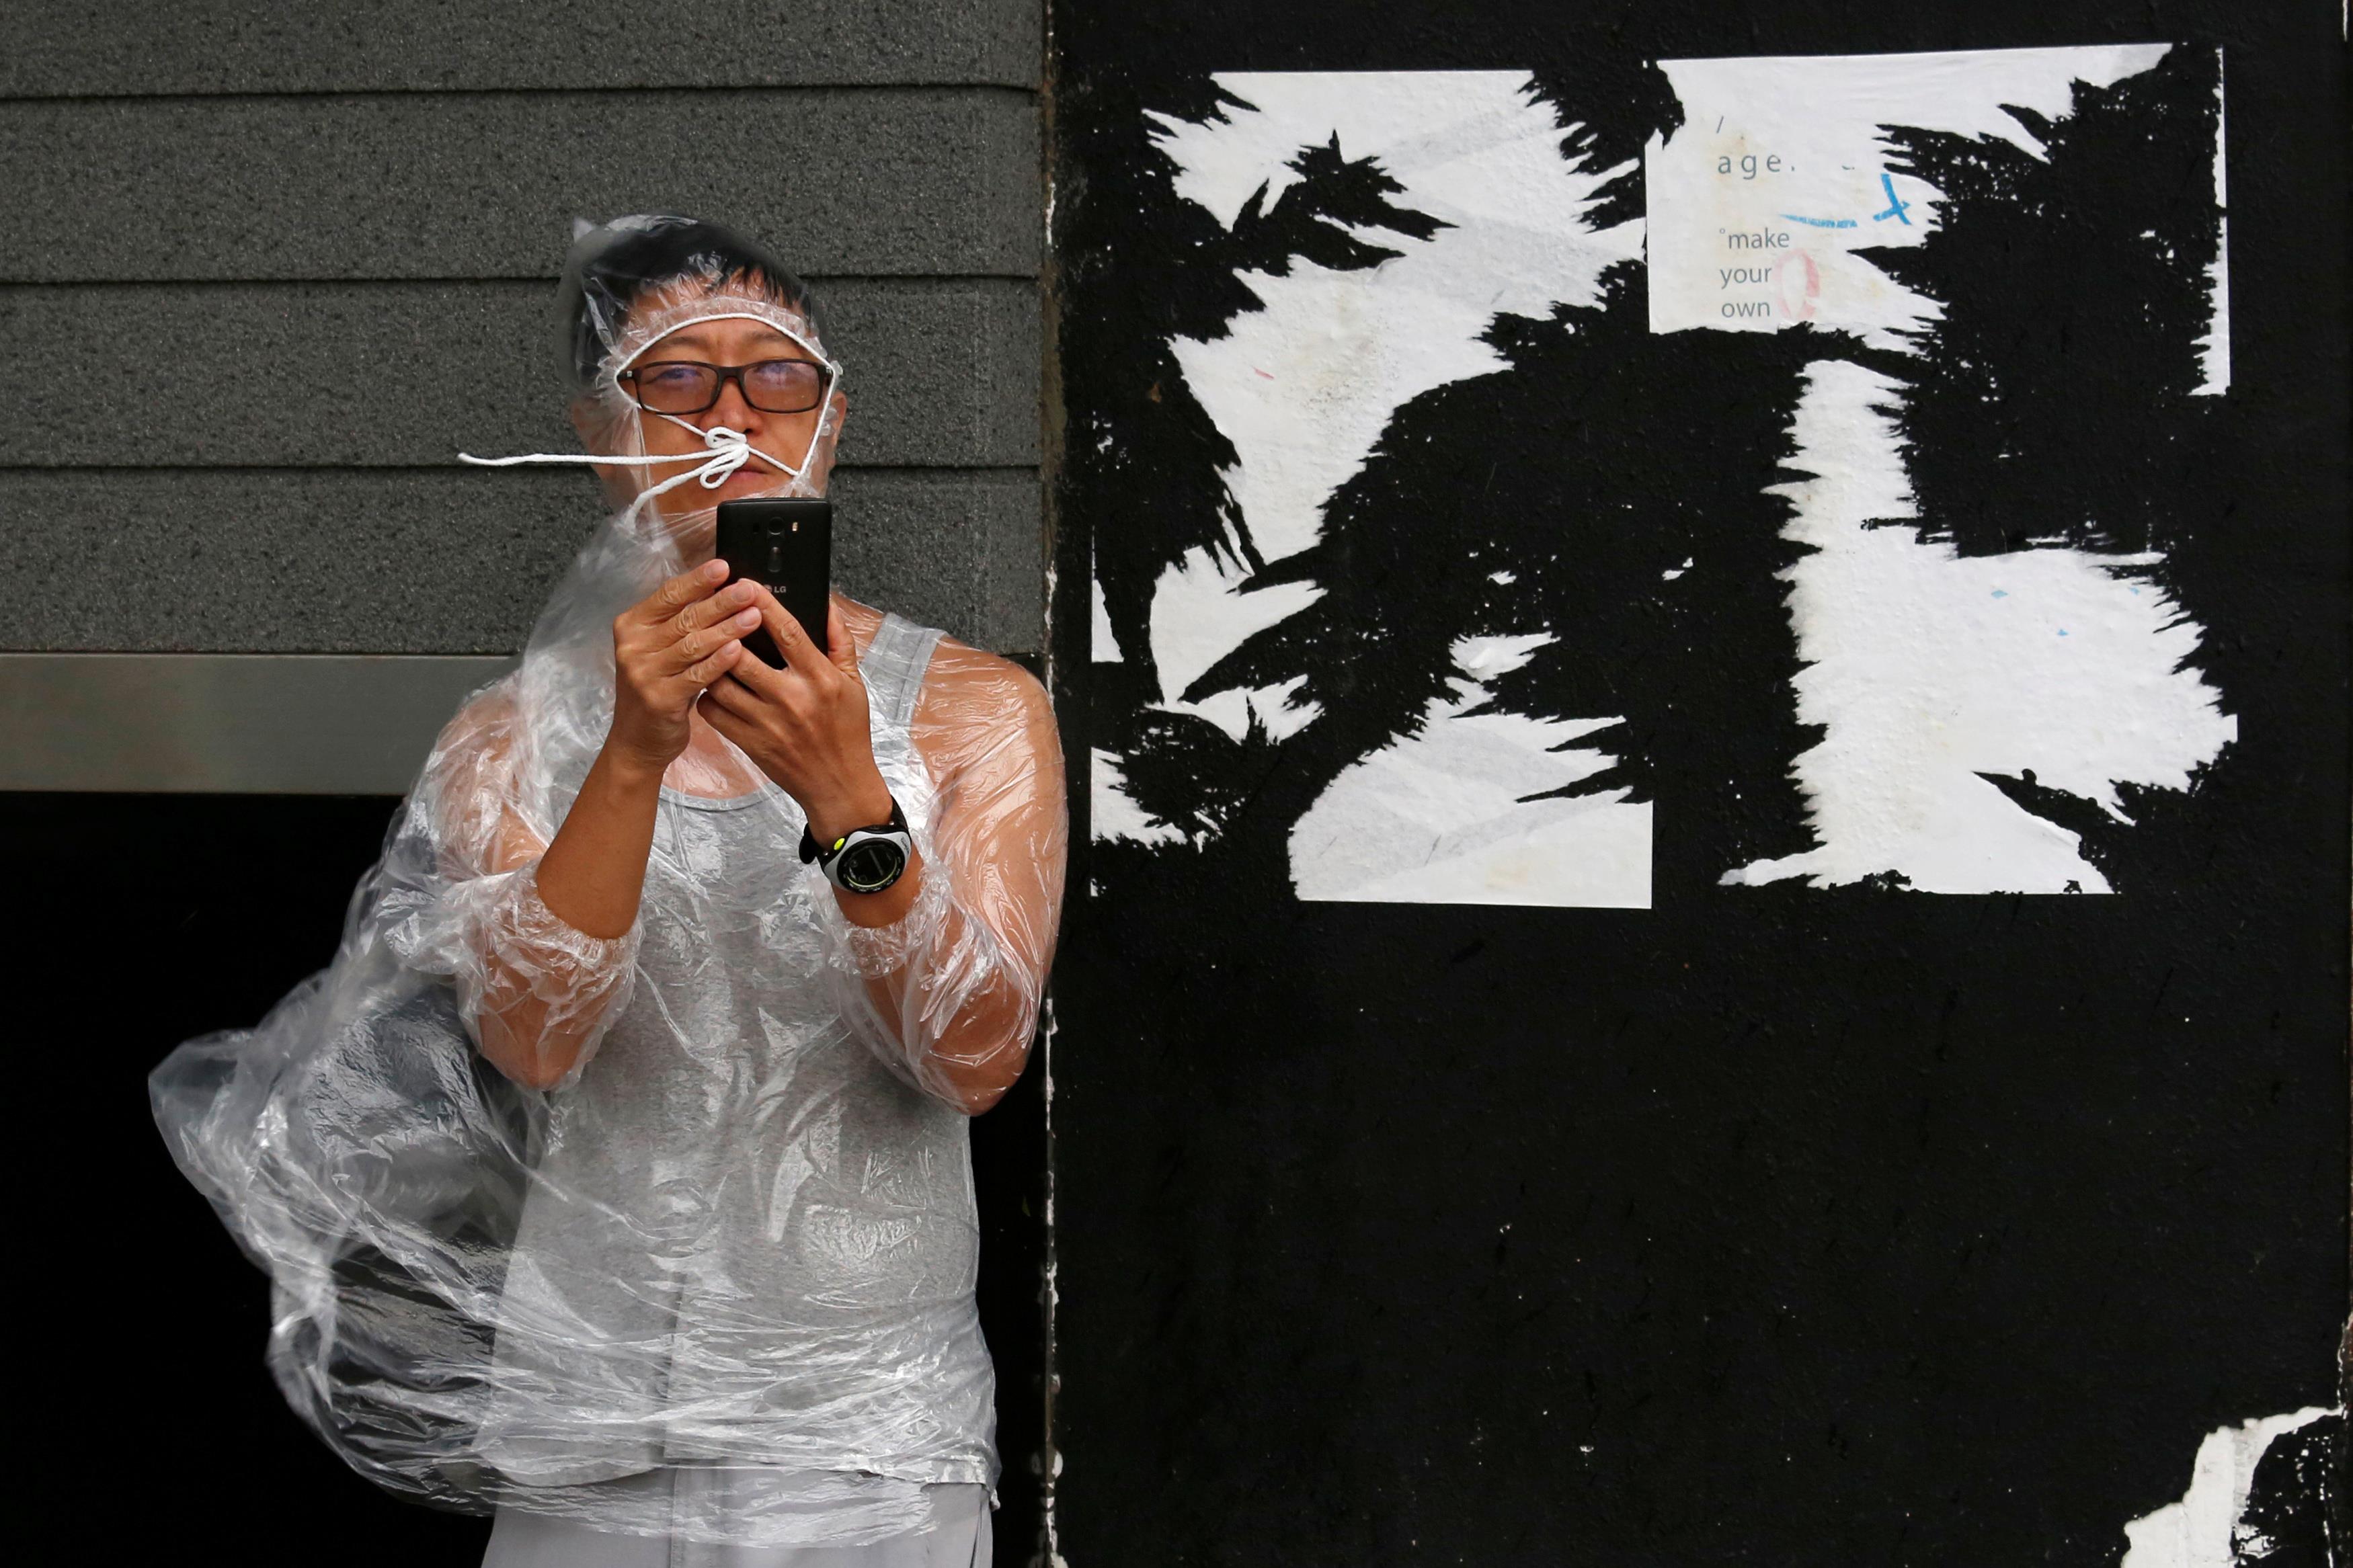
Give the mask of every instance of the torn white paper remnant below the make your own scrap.
[[(1817, 846), (1725, 882), (1859, 882), (1904, 872), (1934, 893), (2108, 891), (2073, 832), (1979, 773), (2021, 776), (2120, 816), (2118, 783), (2184, 790), (2238, 736), (2195, 670), (2200, 628), (2151, 578), (2158, 557), (2080, 550), (1960, 555), (1913, 527), (1892, 407), (1901, 386), (1845, 360), (1807, 367), (1784, 534), (1805, 668), (1798, 717), (1826, 726), (1795, 759)], [(1878, 404), (1878, 407), (1875, 407)]]

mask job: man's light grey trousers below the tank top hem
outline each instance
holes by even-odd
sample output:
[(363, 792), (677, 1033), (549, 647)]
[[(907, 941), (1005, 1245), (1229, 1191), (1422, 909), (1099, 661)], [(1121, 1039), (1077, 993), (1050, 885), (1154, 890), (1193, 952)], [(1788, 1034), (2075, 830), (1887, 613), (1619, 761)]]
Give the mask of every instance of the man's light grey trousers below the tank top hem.
[[(685, 1467), (645, 1481), (692, 1490), (708, 1486), (711, 1474)], [(929, 1526), (864, 1547), (713, 1547), (499, 1509), (482, 1568), (991, 1568), (988, 1488), (927, 1486), (925, 1497)]]

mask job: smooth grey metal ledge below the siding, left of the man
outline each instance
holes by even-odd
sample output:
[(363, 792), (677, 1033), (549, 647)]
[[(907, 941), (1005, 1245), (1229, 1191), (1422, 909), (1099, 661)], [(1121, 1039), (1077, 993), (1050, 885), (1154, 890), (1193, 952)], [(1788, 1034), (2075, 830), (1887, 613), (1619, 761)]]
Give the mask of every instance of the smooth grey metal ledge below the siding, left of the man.
[(0, 790), (407, 795), (513, 658), (0, 654)]

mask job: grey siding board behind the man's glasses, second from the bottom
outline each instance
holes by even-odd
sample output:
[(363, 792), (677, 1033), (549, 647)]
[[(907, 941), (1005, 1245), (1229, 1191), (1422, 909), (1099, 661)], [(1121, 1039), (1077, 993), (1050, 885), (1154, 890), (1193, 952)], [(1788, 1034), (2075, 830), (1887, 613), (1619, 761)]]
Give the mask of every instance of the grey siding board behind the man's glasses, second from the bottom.
[[(544, 282), (0, 289), (0, 465), (456, 465), (579, 451)], [(840, 282), (847, 465), (1033, 465), (1031, 282)]]

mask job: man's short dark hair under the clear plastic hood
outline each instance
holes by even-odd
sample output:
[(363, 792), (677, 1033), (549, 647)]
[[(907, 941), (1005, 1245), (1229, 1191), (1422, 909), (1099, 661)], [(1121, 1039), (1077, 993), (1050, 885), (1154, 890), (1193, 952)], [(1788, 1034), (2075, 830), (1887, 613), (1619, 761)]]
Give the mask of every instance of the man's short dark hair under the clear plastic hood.
[(826, 331), (816, 294), (758, 240), (675, 214), (614, 219), (576, 233), (572, 254), (565, 256), (565, 275), (555, 284), (565, 371), (574, 393), (595, 381), (598, 364), (619, 339), (631, 303), (647, 289), (680, 277), (699, 277), (711, 287), (748, 284), (779, 306), (807, 315), (819, 336)]

